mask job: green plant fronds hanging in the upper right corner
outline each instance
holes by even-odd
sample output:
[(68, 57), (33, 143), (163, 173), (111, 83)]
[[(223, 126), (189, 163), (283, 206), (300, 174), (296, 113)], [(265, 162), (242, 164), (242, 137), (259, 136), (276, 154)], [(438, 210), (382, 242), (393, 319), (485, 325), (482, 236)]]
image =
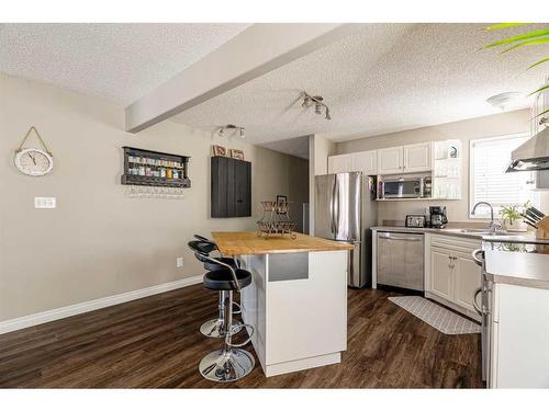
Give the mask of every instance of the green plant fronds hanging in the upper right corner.
[[(506, 30), (511, 27), (516, 27), (520, 25), (528, 25), (531, 23), (498, 23), (498, 24), (493, 24), (489, 27), (485, 27), (484, 30), (488, 32), (493, 32), (493, 31), (500, 31), (500, 30)], [(512, 52), (514, 49), (520, 48), (520, 47), (531, 47), (531, 46), (547, 46), (549, 45), (549, 27), (548, 28), (541, 28), (541, 30), (536, 30), (529, 33), (524, 33), (519, 34), (516, 36), (512, 37), (506, 37), (503, 39), (500, 39), (497, 42), (493, 42), (490, 44), (486, 44), (482, 49), (486, 48), (493, 48), (493, 47), (505, 47), (501, 54)], [(535, 62), (533, 62), (526, 70), (530, 70), (534, 67), (538, 67), (540, 65), (549, 62), (549, 57), (544, 57)], [(531, 93), (528, 94), (528, 96), (539, 93), (544, 90), (549, 89), (549, 84), (542, 85), (537, 90), (534, 90)], [(541, 113), (538, 114), (538, 116), (541, 116), (544, 114), (547, 114), (549, 110), (546, 110)]]

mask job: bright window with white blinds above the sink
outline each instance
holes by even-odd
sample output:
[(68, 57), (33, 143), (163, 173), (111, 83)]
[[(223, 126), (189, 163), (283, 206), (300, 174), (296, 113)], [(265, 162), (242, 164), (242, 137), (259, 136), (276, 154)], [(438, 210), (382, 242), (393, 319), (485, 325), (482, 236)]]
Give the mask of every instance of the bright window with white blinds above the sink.
[[(539, 194), (530, 189), (534, 173), (505, 173), (511, 162), (511, 151), (528, 138), (528, 134), (520, 134), (471, 140), (469, 214), (478, 202), (492, 204), (494, 216), (497, 216), (502, 206), (523, 205), (527, 201), (539, 207)], [(490, 208), (479, 207), (470, 217), (490, 218)]]

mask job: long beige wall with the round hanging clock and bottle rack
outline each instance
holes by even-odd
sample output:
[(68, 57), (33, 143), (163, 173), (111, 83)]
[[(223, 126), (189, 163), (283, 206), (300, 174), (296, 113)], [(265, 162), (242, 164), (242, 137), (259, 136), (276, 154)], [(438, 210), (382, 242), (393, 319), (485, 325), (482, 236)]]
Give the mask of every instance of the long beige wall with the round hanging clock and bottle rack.
[[(13, 165), (31, 125), (54, 153), (44, 178)], [(193, 233), (255, 229), (259, 202), (289, 194), (290, 156), (169, 121), (128, 134), (121, 106), (5, 75), (0, 135), (0, 321), (201, 274), (187, 248)], [(253, 217), (209, 218), (212, 144), (251, 161)], [(130, 198), (122, 146), (190, 156), (184, 199)], [(34, 209), (35, 196), (57, 197), (57, 208)]]

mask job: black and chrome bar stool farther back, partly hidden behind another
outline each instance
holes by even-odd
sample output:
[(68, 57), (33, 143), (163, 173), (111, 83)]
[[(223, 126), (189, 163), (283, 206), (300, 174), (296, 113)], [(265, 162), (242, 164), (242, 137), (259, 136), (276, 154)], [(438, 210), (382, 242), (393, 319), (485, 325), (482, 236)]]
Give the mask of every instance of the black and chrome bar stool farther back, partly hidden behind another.
[[(194, 255), (197, 255), (197, 252), (210, 254), (212, 251), (217, 250), (217, 246), (213, 241), (206, 239), (205, 237), (194, 235), (194, 238), (197, 238), (199, 241), (189, 242), (189, 248), (194, 252)], [(237, 263), (234, 259), (220, 256), (220, 258), (214, 258), (214, 260), (215, 260), (215, 262), (199, 259), (199, 261), (204, 263), (204, 269), (208, 271), (224, 270), (225, 267), (223, 265), (221, 265), (220, 262), (228, 264), (228, 265), (233, 266), (234, 269), (238, 269)], [(221, 339), (221, 338), (225, 336), (225, 324), (224, 324), (225, 323), (224, 301), (226, 299), (225, 293), (226, 292), (224, 292), (224, 290), (219, 293), (220, 298), (219, 298), (219, 305), (217, 305), (217, 308), (219, 308), (217, 318), (214, 318), (212, 320), (208, 320), (202, 326), (200, 326), (200, 332), (205, 336), (210, 336), (213, 339)], [(233, 301), (233, 304), (238, 307), (237, 310), (233, 310), (233, 313), (240, 313), (242, 312), (240, 306), (234, 301)], [(237, 326), (237, 328), (235, 329), (235, 332), (239, 332), (240, 331), (239, 327), (242, 326), (242, 322), (238, 320), (233, 320), (233, 324)]]

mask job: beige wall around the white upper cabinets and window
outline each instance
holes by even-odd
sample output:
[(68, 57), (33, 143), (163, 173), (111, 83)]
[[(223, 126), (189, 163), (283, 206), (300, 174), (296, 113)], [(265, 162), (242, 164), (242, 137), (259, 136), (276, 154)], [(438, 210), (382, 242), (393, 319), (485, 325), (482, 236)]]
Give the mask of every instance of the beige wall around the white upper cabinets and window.
[[(380, 203), (378, 220), (379, 224), (382, 224), (383, 220), (399, 220), (404, 222), (406, 214), (424, 214), (425, 208), (429, 205), (445, 205), (447, 206), (448, 218), (451, 221), (479, 221), (479, 219), (469, 218), (469, 141), (478, 138), (528, 133), (529, 118), (530, 112), (528, 110), (495, 114), (485, 117), (338, 142), (336, 145), (336, 152), (341, 155), (423, 141), (459, 139), (461, 140), (463, 152), (461, 199)], [(542, 205), (549, 206), (548, 197), (549, 193), (542, 195)]]

